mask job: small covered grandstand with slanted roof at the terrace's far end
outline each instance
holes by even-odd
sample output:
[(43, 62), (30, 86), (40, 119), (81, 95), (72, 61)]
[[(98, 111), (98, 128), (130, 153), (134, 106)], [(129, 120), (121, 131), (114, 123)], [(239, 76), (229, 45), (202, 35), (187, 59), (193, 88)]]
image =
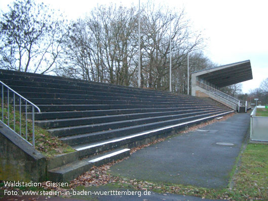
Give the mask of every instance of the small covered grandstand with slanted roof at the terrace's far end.
[(247, 101), (229, 96), (220, 89), (252, 78), (250, 60), (199, 70), (192, 73), (192, 96), (210, 97), (238, 112), (246, 112), (251, 107)]

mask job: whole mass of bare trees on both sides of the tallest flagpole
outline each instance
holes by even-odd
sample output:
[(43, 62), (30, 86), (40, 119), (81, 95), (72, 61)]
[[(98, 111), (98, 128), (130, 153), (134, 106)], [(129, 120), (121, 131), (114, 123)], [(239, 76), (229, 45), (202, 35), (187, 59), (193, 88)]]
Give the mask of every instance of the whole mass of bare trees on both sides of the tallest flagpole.
[[(174, 92), (186, 93), (187, 50), (193, 59), (209, 62), (199, 52), (204, 38), (199, 32), (189, 31), (184, 11), (174, 12), (153, 3), (141, 9), (141, 86), (167, 90), (169, 88), (169, 58), (172, 56)], [(172, 32), (170, 34), (170, 25)], [(72, 22), (71, 31), (65, 38), (68, 45), (63, 62), (57, 73), (80, 77), (90, 81), (137, 86), (138, 67), (138, 15), (137, 8), (100, 6), (85, 19)], [(190, 29), (188, 29), (190, 30)], [(189, 46), (187, 37), (189, 36)], [(170, 37), (172, 48), (170, 52)], [(198, 63), (198, 61), (196, 62)], [(202, 63), (202, 65), (201, 65)], [(180, 86), (178, 86), (180, 85)]]

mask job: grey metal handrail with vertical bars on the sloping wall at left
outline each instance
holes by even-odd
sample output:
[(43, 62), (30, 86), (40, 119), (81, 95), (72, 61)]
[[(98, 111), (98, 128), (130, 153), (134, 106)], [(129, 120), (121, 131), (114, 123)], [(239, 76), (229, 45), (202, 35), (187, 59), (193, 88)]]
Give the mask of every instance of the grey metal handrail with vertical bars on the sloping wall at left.
[[(12, 129), (17, 135), (21, 136), (21, 99), (23, 99), (25, 101), (25, 122), (26, 122), (26, 131), (25, 131), (25, 135), (26, 135), (26, 141), (31, 144), (28, 141), (28, 130), (27, 130), (27, 103), (29, 103), (32, 106), (32, 146), (33, 148), (35, 147), (35, 137), (34, 137), (34, 108), (36, 108), (38, 110), (38, 112), (40, 113), (41, 110), (39, 107), (37, 107), (34, 103), (32, 103), (31, 101), (29, 101), (28, 99), (24, 98), (23, 96), (21, 96), (20, 94), (18, 94), (16, 91), (14, 91), (13, 89), (11, 89), (9, 86), (7, 86), (5, 83), (3, 83), (2, 81), (0, 81), (0, 83), (2, 84), (2, 120), (1, 122), (3, 124), (4, 123), (4, 86), (7, 88), (7, 106), (8, 106), (8, 127), (10, 128), (10, 91), (13, 92), (13, 111), (14, 111), (14, 129)], [(20, 134), (18, 134), (15, 130), (15, 125), (16, 125), (16, 95), (19, 97), (19, 113), (20, 113)], [(30, 106), (29, 105), (29, 106)], [(22, 137), (23, 138), (23, 137)], [(24, 138), (23, 138), (24, 139)]]

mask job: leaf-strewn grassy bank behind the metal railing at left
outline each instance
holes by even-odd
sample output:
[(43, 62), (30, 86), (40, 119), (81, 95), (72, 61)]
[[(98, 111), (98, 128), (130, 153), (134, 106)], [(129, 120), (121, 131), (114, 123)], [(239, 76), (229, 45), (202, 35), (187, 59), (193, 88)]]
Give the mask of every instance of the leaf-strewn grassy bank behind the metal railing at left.
[[(2, 119), (2, 108), (0, 108)], [(14, 130), (14, 111), (10, 106), (10, 128)], [(8, 125), (8, 108), (4, 107), (4, 123)], [(22, 114), (21, 131), (20, 131), (20, 114), (15, 111), (15, 131), (26, 139), (26, 118)], [(57, 137), (51, 136), (48, 131), (40, 127), (34, 126), (35, 149), (39, 150), (43, 155), (50, 158), (57, 154), (69, 153), (75, 151), (69, 145), (64, 144)], [(27, 140), (32, 144), (32, 121), (27, 119)]]

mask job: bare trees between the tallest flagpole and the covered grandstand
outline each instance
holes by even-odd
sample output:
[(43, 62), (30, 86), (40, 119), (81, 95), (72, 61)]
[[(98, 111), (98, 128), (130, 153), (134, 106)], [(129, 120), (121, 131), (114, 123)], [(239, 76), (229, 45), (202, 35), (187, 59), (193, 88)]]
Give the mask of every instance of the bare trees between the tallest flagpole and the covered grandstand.
[(177, 76), (185, 63), (188, 48), (189, 52), (202, 49), (204, 38), (199, 33), (189, 32), (189, 47), (187, 47), (186, 28), (189, 27), (189, 22), (185, 19), (184, 10), (177, 13), (169, 8), (157, 7), (148, 2), (143, 5), (142, 14), (143, 83), (145, 87), (167, 90), (170, 54), (172, 55), (172, 75)]

